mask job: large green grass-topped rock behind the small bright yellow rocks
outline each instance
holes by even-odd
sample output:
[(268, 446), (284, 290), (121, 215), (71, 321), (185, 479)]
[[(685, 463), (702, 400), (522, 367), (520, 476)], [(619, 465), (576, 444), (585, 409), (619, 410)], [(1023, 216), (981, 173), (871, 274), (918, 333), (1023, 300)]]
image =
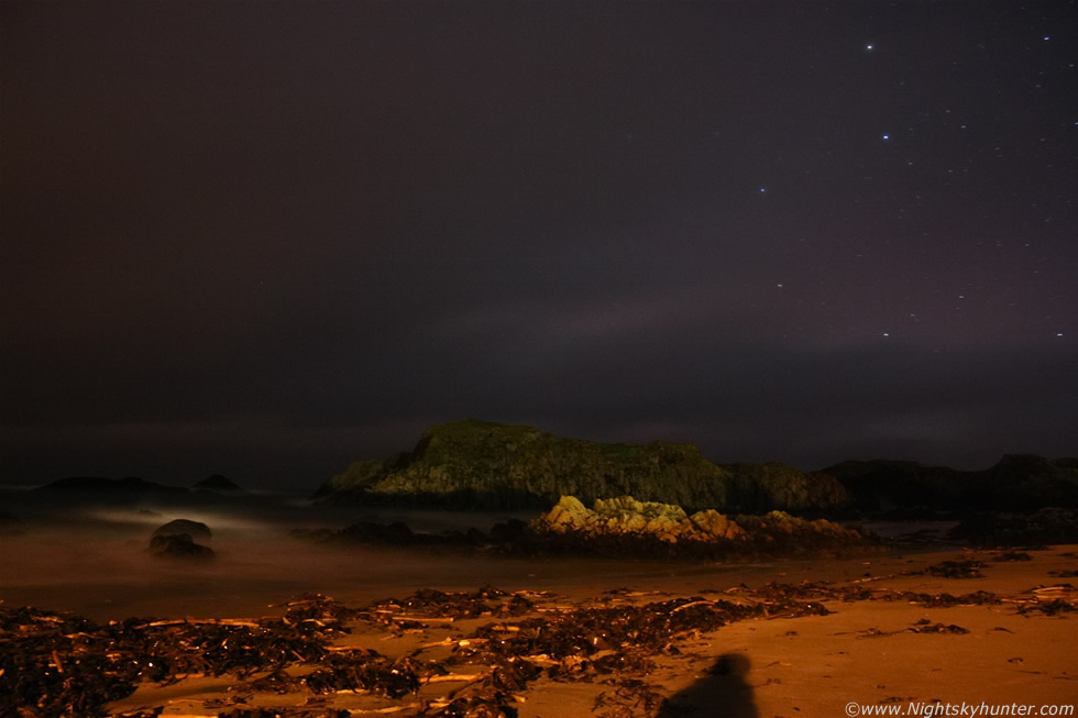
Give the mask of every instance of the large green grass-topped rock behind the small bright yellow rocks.
[(722, 511), (821, 511), (849, 496), (831, 476), (784, 464), (721, 466), (691, 444), (607, 444), (531, 427), (460, 421), (432, 427), (410, 453), (356, 462), (318, 491), (333, 500), (464, 508), (549, 508), (632, 495)]

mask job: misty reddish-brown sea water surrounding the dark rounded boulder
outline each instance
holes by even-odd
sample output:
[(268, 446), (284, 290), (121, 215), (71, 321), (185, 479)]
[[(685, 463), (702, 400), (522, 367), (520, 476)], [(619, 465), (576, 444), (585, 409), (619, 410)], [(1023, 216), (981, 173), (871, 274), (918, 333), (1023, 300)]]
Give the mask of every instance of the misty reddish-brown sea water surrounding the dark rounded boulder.
[[(617, 586), (695, 581), (750, 565), (723, 566), (606, 559), (506, 559), (447, 549), (394, 549), (317, 543), (296, 528), (340, 529), (355, 521), (404, 521), (416, 531), (488, 530), (530, 515), (453, 513), (317, 507), (266, 500), (176, 507), (145, 501), (86, 507), (78, 501), (9, 501), (23, 519), (20, 535), (0, 537), (0, 600), (70, 610), (94, 620), (139, 617), (256, 617), (272, 605), (321, 593), (360, 606), (419, 588), (600, 592)], [(147, 548), (153, 531), (176, 518), (206, 523), (208, 562), (161, 559)]]

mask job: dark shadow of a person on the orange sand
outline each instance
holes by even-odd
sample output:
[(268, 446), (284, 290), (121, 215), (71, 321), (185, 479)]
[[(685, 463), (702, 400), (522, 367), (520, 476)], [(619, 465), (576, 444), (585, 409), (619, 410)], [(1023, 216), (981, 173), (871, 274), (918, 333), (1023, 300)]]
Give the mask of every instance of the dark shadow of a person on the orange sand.
[(658, 718), (759, 718), (748, 684), (751, 661), (743, 653), (724, 653), (707, 675), (667, 699)]

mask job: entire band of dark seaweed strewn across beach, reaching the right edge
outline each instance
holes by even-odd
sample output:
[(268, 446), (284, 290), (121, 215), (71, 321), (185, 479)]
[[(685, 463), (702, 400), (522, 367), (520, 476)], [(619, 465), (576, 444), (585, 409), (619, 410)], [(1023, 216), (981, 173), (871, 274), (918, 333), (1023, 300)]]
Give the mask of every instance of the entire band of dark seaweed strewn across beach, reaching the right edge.
[[(595, 715), (649, 716), (667, 700), (649, 682), (657, 665), (691, 660), (693, 641), (736, 621), (825, 616), (833, 612), (825, 603), (1010, 604), (1021, 615), (1047, 616), (1072, 612), (1078, 605), (1069, 584), (1000, 597), (920, 594), (873, 587), (873, 581), (769, 583), (679, 597), (622, 588), (580, 604), (490, 586), (466, 593), (422, 589), (359, 608), (311, 594), (276, 606), (282, 615), (256, 619), (103, 625), (0, 605), (0, 715), (147, 718), (163, 706), (129, 700), (139, 707), (109, 713), (109, 705), (140, 687), (152, 692), (223, 676), (231, 682), (228, 693), (206, 703), (212, 713), (199, 715), (338, 718), (392, 709), (430, 718), (512, 718), (529, 691), (554, 682), (602, 688)], [(966, 631), (927, 619), (905, 630)], [(865, 637), (886, 634), (893, 631), (872, 629)], [(385, 653), (372, 648), (385, 640), (395, 648)], [(375, 703), (350, 713), (341, 708), (345, 695)], [(263, 705), (277, 700), (279, 707)]]

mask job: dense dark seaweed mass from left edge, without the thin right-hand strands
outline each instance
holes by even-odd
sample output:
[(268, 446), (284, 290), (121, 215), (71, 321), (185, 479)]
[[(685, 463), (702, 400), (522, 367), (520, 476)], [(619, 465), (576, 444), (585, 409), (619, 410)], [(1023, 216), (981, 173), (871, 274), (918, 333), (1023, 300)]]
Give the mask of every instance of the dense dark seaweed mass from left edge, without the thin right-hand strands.
[[(103, 716), (108, 703), (142, 683), (229, 675), (250, 692), (356, 692), (391, 699), (455, 683), (444, 696), (417, 703), (417, 713), (513, 716), (515, 694), (539, 677), (612, 681), (624, 700), (647, 693), (638, 676), (653, 656), (676, 653), (686, 636), (747, 618), (826, 612), (820, 603), (793, 598), (637, 605), (614, 596), (598, 606), (564, 607), (490, 587), (471, 594), (421, 590), (359, 609), (308, 596), (284, 608), (284, 616), (254, 620), (97, 625), (68, 614), (0, 607), (0, 715)], [(397, 658), (340, 644), (361, 623), (399, 634), (468, 619), (486, 622)]]

